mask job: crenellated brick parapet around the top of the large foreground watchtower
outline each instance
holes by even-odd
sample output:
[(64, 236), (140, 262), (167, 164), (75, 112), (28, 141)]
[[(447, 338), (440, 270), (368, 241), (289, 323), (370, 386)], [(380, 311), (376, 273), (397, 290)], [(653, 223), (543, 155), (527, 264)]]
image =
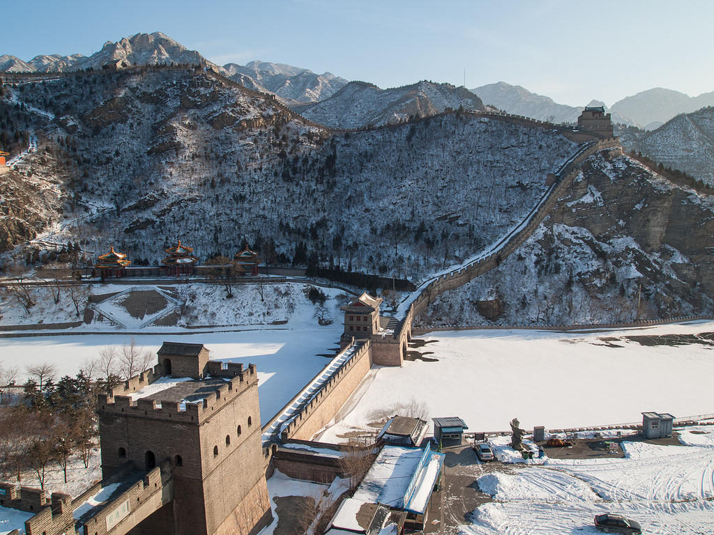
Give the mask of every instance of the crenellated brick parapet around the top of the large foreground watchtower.
[[(144, 374), (141, 374), (144, 375), (144, 379), (138, 376), (127, 382), (131, 384), (131, 387), (126, 387), (125, 385), (112, 390), (111, 393), (100, 394), (98, 409), (105, 414), (171, 420), (172, 422), (201, 423), (258, 382), (258, 374), (254, 364), (249, 364), (247, 368), (243, 368), (242, 364), (234, 364), (232, 362), (211, 362), (209, 363), (210, 368), (213, 368), (211, 376), (221, 377), (225, 379), (225, 383), (208, 392), (205, 397), (197, 401), (176, 402), (144, 397), (134, 399), (131, 395), (118, 393), (126, 392), (126, 394), (131, 394), (132, 392), (139, 392), (141, 385), (147, 386), (160, 377), (144, 372)], [(154, 380), (150, 380), (151, 378), (154, 378)], [(134, 379), (137, 380), (134, 381)]]

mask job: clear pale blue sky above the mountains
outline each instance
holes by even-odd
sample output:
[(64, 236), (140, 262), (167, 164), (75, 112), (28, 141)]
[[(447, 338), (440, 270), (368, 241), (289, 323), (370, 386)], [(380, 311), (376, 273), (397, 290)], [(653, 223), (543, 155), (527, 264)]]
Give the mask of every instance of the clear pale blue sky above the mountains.
[(386, 88), (506, 81), (611, 105), (648, 88), (714, 91), (714, 1), (4, 2), (0, 54), (92, 54), (161, 31), (219, 64), (289, 63)]

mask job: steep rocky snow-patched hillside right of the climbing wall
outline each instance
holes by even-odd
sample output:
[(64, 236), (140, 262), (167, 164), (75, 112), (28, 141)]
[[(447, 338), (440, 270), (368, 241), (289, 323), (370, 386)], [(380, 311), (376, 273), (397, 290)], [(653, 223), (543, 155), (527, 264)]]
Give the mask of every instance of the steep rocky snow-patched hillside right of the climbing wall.
[[(712, 310), (714, 202), (597, 154), (516, 253), (432, 302), (425, 325), (632, 322)], [(466, 323), (468, 325), (468, 323)]]

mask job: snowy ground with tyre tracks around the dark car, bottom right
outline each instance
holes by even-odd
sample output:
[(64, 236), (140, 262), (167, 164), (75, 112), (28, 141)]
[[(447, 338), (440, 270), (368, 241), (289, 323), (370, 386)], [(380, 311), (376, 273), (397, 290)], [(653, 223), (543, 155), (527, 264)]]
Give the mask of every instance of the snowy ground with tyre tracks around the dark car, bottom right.
[(599, 533), (596, 514), (638, 521), (647, 534), (705, 534), (714, 525), (714, 429), (688, 428), (702, 445), (624, 442), (623, 459), (545, 459), (491, 472), (478, 487), (496, 501), (471, 514), (466, 535)]

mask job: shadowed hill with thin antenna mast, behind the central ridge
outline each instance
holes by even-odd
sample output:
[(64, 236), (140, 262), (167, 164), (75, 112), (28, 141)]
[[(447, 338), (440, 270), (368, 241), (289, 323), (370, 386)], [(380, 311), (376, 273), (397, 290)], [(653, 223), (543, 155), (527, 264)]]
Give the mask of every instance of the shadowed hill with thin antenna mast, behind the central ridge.
[(393, 124), (409, 116), (426, 117), (446, 108), (485, 109), (481, 98), (464, 87), (421, 81), (411, 86), (380, 89), (372, 83), (350, 82), (331, 98), (309, 106), (293, 106), (303, 117), (332, 128)]

